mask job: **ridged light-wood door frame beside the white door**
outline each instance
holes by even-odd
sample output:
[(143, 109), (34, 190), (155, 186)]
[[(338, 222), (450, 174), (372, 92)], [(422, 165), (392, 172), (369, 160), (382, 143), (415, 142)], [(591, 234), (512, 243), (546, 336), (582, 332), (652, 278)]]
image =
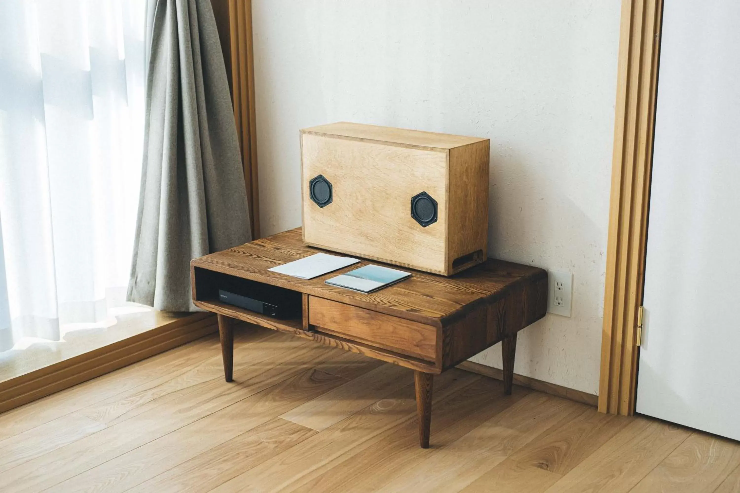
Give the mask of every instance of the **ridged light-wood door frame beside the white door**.
[(622, 0), (599, 411), (635, 412), (663, 0)]

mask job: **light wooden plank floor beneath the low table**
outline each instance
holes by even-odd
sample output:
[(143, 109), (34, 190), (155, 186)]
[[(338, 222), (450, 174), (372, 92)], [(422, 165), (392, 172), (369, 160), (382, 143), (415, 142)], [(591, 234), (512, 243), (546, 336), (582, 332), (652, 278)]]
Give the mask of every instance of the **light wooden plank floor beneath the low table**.
[(0, 492), (740, 492), (740, 444), (462, 370), (420, 449), (410, 370), (256, 327), (0, 415)]

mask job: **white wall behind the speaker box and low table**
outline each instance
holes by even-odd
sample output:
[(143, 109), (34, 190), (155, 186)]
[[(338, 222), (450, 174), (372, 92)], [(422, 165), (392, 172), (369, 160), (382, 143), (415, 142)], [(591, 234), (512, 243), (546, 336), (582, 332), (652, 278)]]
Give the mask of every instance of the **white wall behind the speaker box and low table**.
[[(260, 220), (300, 225), (298, 130), (491, 139), (490, 254), (573, 278), (571, 318), (519, 333), (515, 371), (596, 393), (619, 0), (255, 0)], [(474, 361), (500, 367), (497, 345)]]

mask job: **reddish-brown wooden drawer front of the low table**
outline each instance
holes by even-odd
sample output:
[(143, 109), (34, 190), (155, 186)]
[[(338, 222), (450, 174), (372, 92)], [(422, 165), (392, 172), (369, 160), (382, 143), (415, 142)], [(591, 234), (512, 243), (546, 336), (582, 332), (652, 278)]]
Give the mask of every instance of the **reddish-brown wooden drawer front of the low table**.
[(309, 324), (317, 330), (435, 361), (437, 329), (431, 325), (309, 296)]

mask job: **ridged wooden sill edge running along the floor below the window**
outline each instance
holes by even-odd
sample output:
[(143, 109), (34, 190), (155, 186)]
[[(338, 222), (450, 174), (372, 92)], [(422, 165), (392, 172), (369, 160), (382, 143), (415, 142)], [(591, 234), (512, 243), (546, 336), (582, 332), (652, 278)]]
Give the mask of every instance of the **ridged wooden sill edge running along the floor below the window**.
[(128, 339), (10, 378), (0, 382), (0, 412), (36, 401), (214, 332), (218, 332), (215, 315), (193, 313)]

